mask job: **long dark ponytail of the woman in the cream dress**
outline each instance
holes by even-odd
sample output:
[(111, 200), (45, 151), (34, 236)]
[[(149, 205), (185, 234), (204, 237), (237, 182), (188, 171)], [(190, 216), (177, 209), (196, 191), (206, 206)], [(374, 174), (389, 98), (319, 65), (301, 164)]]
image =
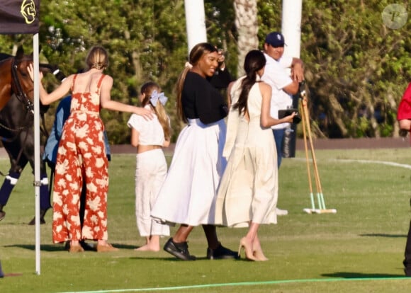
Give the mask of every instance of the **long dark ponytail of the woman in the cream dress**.
[(249, 91), (256, 82), (259, 82), (257, 81), (257, 71), (264, 68), (264, 66), (266, 66), (266, 57), (264, 57), (263, 52), (259, 50), (251, 50), (245, 56), (244, 70), (246, 76), (244, 77), (244, 79), (242, 79), (241, 82), (242, 90), (240, 97), (238, 98), (237, 103), (232, 105), (232, 108), (238, 109), (238, 113), (247, 113), (247, 100)]

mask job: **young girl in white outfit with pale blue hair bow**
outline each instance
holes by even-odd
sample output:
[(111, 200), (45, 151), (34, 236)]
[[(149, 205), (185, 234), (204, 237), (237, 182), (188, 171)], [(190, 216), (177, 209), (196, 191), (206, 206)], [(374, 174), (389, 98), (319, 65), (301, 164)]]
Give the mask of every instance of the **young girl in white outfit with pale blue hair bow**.
[(131, 115), (131, 144), (137, 148), (135, 168), (135, 216), (140, 236), (146, 243), (136, 251), (159, 251), (160, 236), (169, 236), (170, 229), (150, 217), (152, 205), (157, 199), (159, 188), (167, 175), (167, 161), (162, 150), (170, 144), (169, 116), (164, 109), (167, 97), (160, 93), (160, 87), (147, 82), (140, 91), (142, 107), (155, 113), (152, 120)]

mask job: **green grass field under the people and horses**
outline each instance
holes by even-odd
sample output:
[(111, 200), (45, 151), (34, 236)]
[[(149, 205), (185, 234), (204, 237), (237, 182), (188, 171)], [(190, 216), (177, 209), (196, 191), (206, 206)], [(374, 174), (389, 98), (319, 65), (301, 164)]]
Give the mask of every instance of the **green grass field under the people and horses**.
[[(402, 269), (411, 216), (410, 149), (316, 151), (316, 156), (325, 204), (337, 213), (303, 212), (310, 207), (305, 154), (284, 159), (278, 207), (289, 214), (278, 217), (277, 225), (261, 226), (269, 261), (253, 263), (206, 260), (201, 227), (189, 238), (191, 253), (200, 258), (195, 262), (164, 251), (134, 251), (144, 243), (135, 224), (135, 156), (114, 154), (108, 233), (120, 251), (67, 253), (62, 244), (52, 244), (49, 211), (41, 226), (40, 275), (35, 274), (35, 229), (26, 224), (34, 214), (33, 175), (27, 168), (0, 222), (6, 274), (0, 292), (410, 292), (411, 278)], [(0, 171), (8, 169), (9, 161), (0, 159)], [(220, 241), (233, 250), (245, 233), (218, 229)]]

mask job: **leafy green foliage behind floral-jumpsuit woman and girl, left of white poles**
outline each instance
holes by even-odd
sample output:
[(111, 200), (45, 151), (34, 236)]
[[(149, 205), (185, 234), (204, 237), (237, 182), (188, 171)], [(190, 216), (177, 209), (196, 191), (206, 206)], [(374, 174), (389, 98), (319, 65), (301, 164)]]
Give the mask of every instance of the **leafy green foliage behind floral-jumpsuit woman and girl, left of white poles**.
[[(110, 53), (114, 100), (138, 104), (140, 86), (155, 81), (175, 116), (172, 87), (186, 57), (184, 1), (54, 1), (42, 6), (42, 15), (48, 62), (72, 74), (84, 68), (91, 46), (103, 45)], [(101, 116), (111, 143), (129, 142), (129, 114), (103, 110)]]

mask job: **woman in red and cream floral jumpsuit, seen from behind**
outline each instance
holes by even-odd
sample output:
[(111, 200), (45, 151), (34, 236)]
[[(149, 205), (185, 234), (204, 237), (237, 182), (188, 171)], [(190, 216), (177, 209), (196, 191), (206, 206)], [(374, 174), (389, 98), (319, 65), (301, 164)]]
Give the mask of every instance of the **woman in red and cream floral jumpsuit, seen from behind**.
[[(50, 94), (40, 83), (40, 100), (44, 105), (72, 91), (70, 116), (64, 123), (57, 152), (52, 224), (53, 242), (70, 241), (72, 253), (83, 251), (79, 245), (81, 239), (97, 240), (97, 251), (117, 250), (107, 242), (108, 161), (100, 108), (152, 117), (150, 110), (111, 100), (113, 78), (103, 74), (108, 66), (108, 53), (103, 47), (92, 47), (86, 64), (88, 71), (68, 76)], [(33, 66), (28, 69), (33, 79)], [(86, 180), (86, 206), (81, 229), (79, 205), (83, 180)]]

